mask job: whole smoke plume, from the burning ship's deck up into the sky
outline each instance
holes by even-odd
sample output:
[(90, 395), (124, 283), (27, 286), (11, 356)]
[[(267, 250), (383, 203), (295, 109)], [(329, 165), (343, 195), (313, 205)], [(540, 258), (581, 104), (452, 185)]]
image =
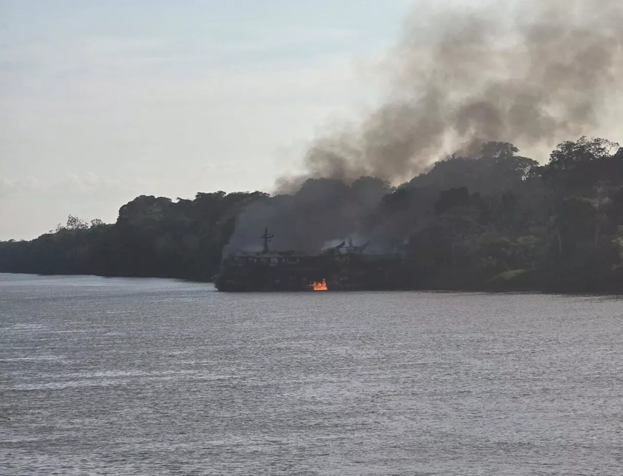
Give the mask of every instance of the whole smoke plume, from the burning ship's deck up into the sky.
[[(451, 153), (477, 157), (489, 141), (535, 153), (612, 121), (609, 108), (623, 87), (622, 0), (433, 6), (418, 2), (383, 63), (389, 93), (382, 105), (318, 138), (305, 156), (306, 173), (277, 181), (290, 195), (248, 207), (224, 254), (259, 246), (265, 226), (275, 233), (274, 249), (318, 249), (348, 236), (396, 244), (414, 220), (426, 219), (435, 187), (453, 179), (438, 168), (431, 189), (379, 208), (386, 184)], [(386, 217), (392, 207), (401, 211)], [(365, 224), (371, 213), (373, 229)]]

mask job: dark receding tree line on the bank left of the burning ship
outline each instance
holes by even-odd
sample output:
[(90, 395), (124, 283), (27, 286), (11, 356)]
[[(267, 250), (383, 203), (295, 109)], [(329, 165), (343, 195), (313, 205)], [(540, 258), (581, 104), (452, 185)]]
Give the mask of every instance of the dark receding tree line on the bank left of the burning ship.
[(198, 193), (194, 200), (140, 196), (115, 224), (70, 215), (31, 241), (0, 242), (0, 271), (211, 280), (235, 217), (261, 193)]

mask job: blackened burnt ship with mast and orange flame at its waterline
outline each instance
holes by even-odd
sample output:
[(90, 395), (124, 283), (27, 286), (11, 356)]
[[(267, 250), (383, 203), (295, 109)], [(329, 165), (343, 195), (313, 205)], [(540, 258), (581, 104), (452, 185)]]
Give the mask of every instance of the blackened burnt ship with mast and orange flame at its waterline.
[(349, 240), (318, 252), (269, 250), (265, 229), (261, 252), (234, 252), (214, 279), (219, 291), (383, 290), (397, 287), (402, 255), (366, 253), (368, 243)]

